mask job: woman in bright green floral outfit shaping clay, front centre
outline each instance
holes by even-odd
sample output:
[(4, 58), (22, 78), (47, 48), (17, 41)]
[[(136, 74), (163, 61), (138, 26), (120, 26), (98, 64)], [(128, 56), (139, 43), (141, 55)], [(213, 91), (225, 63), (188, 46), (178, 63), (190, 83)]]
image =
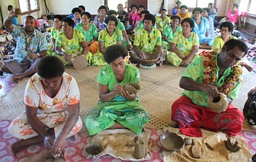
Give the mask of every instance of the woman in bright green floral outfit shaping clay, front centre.
[(137, 93), (124, 91), (124, 84), (139, 82), (139, 70), (124, 63), (128, 55), (123, 45), (111, 45), (105, 50), (108, 65), (99, 72), (99, 102), (86, 116), (86, 128), (92, 136), (108, 128), (129, 128), (140, 134), (148, 122), (148, 112), (140, 106)]

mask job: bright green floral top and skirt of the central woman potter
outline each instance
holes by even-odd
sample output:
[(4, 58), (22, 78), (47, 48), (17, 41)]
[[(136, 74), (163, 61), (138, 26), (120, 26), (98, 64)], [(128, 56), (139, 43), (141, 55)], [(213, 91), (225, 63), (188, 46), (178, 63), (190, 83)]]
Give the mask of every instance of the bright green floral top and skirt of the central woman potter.
[[(126, 64), (126, 73), (124, 80), (116, 80), (113, 69), (110, 65), (104, 66), (97, 77), (97, 82), (102, 85), (108, 85), (108, 90), (113, 91), (116, 84), (124, 85), (128, 82), (139, 82), (140, 73), (135, 66)], [(140, 134), (143, 124), (148, 122), (148, 112), (140, 106), (138, 97), (134, 101), (127, 101), (123, 97), (116, 95), (112, 101), (98, 102), (98, 105), (91, 109), (86, 116), (85, 124), (92, 136), (107, 128), (110, 128), (115, 122), (129, 128), (135, 134)]]

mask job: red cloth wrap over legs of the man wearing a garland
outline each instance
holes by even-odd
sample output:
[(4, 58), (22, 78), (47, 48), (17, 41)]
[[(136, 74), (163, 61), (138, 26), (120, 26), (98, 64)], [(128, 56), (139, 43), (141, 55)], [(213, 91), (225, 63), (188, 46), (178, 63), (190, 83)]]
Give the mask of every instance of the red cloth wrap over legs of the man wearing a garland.
[(179, 130), (187, 136), (203, 136), (200, 128), (236, 136), (242, 130), (244, 115), (232, 104), (225, 112), (217, 113), (192, 103), (187, 96), (181, 96), (172, 105), (171, 119), (178, 122)]

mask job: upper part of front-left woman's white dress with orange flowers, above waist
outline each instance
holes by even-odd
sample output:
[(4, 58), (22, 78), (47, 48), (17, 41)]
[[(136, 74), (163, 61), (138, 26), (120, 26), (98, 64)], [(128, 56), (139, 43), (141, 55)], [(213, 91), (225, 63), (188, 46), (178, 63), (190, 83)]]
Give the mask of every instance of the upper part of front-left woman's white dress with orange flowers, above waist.
[(42, 78), (34, 74), (26, 85), (24, 102), (27, 107), (38, 108), (38, 114), (63, 112), (67, 105), (80, 102), (80, 92), (75, 78), (64, 72), (59, 92), (53, 98), (49, 97), (42, 87)]

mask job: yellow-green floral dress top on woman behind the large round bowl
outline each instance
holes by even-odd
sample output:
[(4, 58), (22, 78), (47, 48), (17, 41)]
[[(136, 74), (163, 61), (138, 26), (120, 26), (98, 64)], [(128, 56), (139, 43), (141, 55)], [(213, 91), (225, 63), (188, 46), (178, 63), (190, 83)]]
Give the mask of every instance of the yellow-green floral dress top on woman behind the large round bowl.
[(157, 28), (152, 28), (148, 34), (145, 28), (140, 28), (135, 33), (135, 42), (133, 42), (133, 45), (137, 45), (143, 52), (153, 53), (157, 45), (162, 45), (161, 32)]

